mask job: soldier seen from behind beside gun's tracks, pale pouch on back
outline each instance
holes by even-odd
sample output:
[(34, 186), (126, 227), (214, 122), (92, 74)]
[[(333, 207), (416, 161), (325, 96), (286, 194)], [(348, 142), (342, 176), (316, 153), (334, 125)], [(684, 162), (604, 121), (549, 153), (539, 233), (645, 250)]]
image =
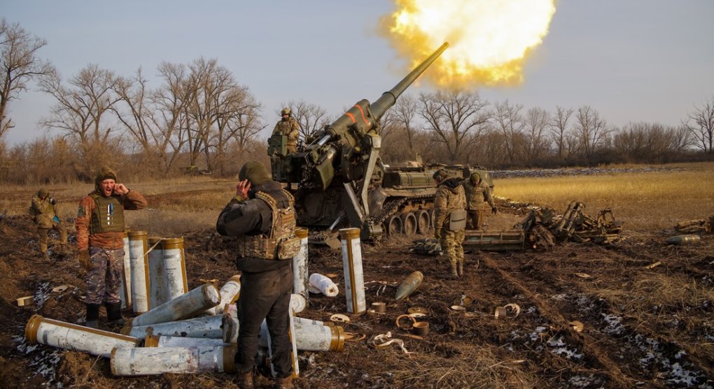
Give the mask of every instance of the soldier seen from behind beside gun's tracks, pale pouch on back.
[[(453, 278), (463, 275), (463, 243), (466, 228), (466, 195), (461, 181), (449, 177), (446, 170), (434, 172), (436, 196), (434, 197), (434, 237), (440, 240), (451, 262)], [(457, 267), (458, 265), (458, 267)]]

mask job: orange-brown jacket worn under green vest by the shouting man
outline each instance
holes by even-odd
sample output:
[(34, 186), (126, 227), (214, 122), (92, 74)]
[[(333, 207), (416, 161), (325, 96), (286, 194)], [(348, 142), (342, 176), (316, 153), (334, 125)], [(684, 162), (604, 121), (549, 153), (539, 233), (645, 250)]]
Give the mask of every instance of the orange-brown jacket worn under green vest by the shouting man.
[[(124, 232), (101, 232), (94, 233), (91, 232), (91, 217), (94, 213), (94, 208), (96, 203), (91, 197), (92, 192), (86, 195), (81, 202), (79, 202), (79, 210), (77, 211), (77, 219), (74, 225), (77, 229), (77, 249), (83, 251), (89, 249), (89, 247), (101, 247), (102, 249), (122, 249), (124, 248)], [(124, 195), (112, 194), (119, 200), (122, 205), (122, 209), (116, 210), (115, 212), (124, 212), (124, 209), (144, 209), (146, 208), (146, 199), (136, 190), (129, 190)]]

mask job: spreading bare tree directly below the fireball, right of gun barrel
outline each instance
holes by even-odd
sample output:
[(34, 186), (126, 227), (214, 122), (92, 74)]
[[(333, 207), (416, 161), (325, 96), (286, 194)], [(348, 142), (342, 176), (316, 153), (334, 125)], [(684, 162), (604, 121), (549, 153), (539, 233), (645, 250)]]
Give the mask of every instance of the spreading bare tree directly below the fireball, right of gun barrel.
[(478, 93), (422, 93), (419, 103), (418, 113), (426, 120), (426, 130), (433, 131), (436, 140), (446, 145), (451, 163), (461, 158), (488, 125), (488, 102)]

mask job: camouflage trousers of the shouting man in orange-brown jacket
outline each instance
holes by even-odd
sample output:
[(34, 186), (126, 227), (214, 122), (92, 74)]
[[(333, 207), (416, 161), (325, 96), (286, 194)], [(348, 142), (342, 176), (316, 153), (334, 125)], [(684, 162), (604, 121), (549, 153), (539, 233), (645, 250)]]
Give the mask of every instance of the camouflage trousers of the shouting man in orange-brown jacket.
[(124, 249), (89, 247), (91, 269), (86, 274), (86, 304), (119, 302), (121, 273), (124, 271)]

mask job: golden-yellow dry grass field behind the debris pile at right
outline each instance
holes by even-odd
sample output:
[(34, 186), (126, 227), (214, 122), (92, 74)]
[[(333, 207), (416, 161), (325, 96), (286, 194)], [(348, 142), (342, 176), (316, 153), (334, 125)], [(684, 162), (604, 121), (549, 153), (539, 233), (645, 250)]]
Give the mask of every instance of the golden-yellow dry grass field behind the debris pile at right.
[[(671, 167), (671, 166), (670, 166)], [(671, 229), (677, 222), (714, 214), (714, 163), (679, 164), (684, 170), (575, 177), (496, 180), (495, 194), (563, 212), (573, 200), (595, 215), (610, 207), (634, 231)]]

